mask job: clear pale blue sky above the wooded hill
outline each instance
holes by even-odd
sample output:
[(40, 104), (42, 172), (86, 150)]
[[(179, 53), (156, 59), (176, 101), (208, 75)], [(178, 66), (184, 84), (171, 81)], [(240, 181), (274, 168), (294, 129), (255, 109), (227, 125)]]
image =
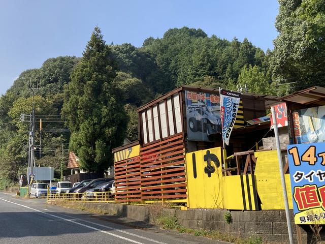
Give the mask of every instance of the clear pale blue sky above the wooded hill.
[(107, 43), (137, 47), (169, 28), (201, 28), (208, 36), (273, 49), (276, 0), (0, 0), (0, 94), (26, 69), (50, 57), (81, 56), (95, 25)]

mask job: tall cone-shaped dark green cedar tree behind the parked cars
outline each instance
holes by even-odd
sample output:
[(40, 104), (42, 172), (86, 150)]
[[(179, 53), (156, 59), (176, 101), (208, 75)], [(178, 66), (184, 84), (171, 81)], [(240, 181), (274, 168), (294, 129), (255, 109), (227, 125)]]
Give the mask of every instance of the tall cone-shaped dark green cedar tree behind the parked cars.
[(80, 63), (64, 88), (63, 116), (72, 132), (70, 149), (80, 168), (104, 173), (113, 162), (112, 149), (121, 145), (126, 114), (116, 86), (117, 66), (111, 49), (95, 27)]

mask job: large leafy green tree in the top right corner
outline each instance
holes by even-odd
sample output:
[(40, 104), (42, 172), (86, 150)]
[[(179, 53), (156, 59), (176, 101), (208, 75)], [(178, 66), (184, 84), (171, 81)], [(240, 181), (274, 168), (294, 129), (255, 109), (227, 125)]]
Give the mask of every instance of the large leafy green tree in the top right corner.
[(295, 82), (287, 92), (325, 84), (325, 2), (280, 0), (279, 4), (273, 79), (280, 84)]

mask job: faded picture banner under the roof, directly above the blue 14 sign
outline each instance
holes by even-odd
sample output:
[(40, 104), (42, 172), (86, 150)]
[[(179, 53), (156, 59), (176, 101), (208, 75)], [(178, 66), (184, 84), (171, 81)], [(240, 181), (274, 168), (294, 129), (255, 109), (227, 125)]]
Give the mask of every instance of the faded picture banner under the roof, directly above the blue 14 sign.
[(325, 142), (325, 106), (293, 111), (296, 143)]

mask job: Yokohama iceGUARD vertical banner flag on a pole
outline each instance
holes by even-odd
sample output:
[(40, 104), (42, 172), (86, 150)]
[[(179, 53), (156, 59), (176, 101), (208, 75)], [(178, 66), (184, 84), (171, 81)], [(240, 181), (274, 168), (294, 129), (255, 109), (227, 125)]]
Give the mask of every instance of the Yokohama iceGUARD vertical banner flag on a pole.
[(229, 145), (230, 135), (235, 125), (240, 97), (241, 93), (220, 88), (222, 140), (226, 145)]

